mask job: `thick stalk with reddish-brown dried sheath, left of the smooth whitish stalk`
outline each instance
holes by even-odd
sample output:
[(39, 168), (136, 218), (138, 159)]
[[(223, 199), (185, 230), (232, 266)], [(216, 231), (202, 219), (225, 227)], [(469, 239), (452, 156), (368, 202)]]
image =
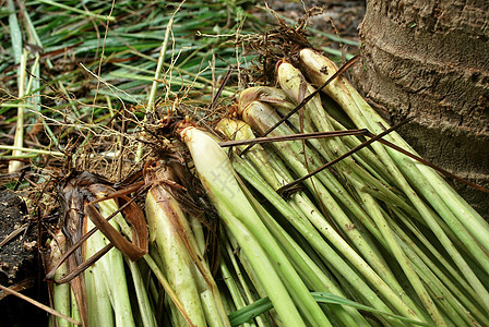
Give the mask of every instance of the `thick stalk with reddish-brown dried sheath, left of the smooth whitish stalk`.
[[(180, 203), (163, 186), (175, 183), (172, 170), (162, 164), (155, 166), (146, 169), (146, 180), (154, 182), (146, 196), (146, 218), (151, 240), (162, 256), (168, 281), (195, 326), (205, 326), (211, 320), (217, 326), (229, 326), (219, 291), (186, 214)], [(201, 301), (203, 294), (207, 294), (205, 301)], [(218, 314), (206, 316), (206, 307), (215, 307)], [(183, 324), (180, 313), (174, 308), (172, 314), (179, 324)]]

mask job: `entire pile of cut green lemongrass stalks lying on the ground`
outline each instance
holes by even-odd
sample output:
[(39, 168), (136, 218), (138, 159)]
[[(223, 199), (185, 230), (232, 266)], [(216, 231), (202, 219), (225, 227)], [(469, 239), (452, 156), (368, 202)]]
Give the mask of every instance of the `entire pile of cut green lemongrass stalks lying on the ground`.
[[(326, 83), (333, 63), (300, 62), (277, 66), (281, 88), (241, 92), (242, 121), (216, 128), (229, 143), (181, 123), (191, 168), (146, 164), (145, 217), (124, 195), (138, 187), (68, 183), (56, 310), (85, 326), (489, 325), (488, 223), (345, 78)], [(213, 268), (208, 226), (182, 201), (193, 172), (224, 222)]]

